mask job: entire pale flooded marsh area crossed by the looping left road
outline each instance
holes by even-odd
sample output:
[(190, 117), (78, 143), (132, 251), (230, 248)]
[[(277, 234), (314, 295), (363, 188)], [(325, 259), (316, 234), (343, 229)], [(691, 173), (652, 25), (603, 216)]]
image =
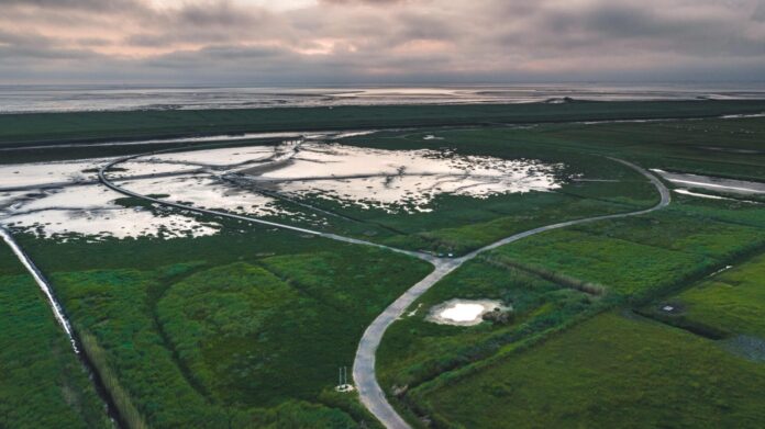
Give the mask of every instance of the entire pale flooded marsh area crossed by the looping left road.
[[(324, 224), (326, 215), (310, 205), (314, 199), (407, 215), (433, 212), (431, 203), (440, 195), (485, 200), (561, 187), (556, 173), (562, 163), (461, 155), (447, 147), (386, 150), (339, 143), (368, 133), (164, 151), (121, 162), (108, 176), (129, 191), (168, 202), (281, 216), (311, 225)], [(0, 194), (3, 224), (40, 237), (197, 237), (215, 233), (214, 223), (202, 224), (189, 214), (121, 203), (127, 200), (124, 195), (98, 183), (98, 168), (112, 159), (0, 167), (8, 189)]]

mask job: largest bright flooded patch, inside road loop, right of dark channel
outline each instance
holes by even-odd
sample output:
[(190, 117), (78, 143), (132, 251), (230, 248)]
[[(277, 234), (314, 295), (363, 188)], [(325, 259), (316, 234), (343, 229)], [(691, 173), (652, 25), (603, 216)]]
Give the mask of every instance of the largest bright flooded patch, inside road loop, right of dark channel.
[(559, 188), (561, 165), (457, 155), (450, 150), (382, 150), (308, 143), (278, 168), (245, 168), (258, 187), (295, 196), (336, 200), (390, 213), (429, 212), (440, 194), (485, 199)]

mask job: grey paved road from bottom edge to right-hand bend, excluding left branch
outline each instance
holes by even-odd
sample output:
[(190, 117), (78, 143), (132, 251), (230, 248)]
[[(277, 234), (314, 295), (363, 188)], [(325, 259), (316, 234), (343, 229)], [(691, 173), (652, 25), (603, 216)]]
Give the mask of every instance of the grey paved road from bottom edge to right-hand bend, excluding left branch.
[(403, 418), (401, 418), (401, 416), (398, 415), (398, 413), (396, 413), (396, 409), (393, 409), (390, 403), (388, 403), (382, 388), (380, 388), (379, 384), (377, 383), (377, 377), (375, 376), (375, 352), (377, 351), (377, 347), (380, 345), (382, 335), (388, 327), (392, 325), (392, 323), (396, 321), (396, 319), (398, 319), (418, 297), (425, 293), (425, 291), (428, 291), (436, 282), (443, 279), (450, 272), (457, 269), (463, 263), (477, 257), (479, 253), (513, 241), (518, 241), (522, 238), (572, 225), (579, 225), (596, 221), (616, 219), (628, 216), (637, 216), (666, 207), (672, 201), (669, 190), (655, 176), (641, 167), (635, 166), (634, 163), (616, 158), (610, 159), (621, 162), (648, 178), (661, 194), (659, 203), (651, 208), (637, 212), (588, 217), (578, 221), (562, 222), (559, 224), (542, 226), (503, 238), (478, 250), (472, 251), (461, 258), (455, 258), (452, 260), (437, 260), (435, 261), (435, 270), (430, 275), (422, 279), (419, 283), (404, 292), (403, 295), (399, 296), (398, 300), (390, 304), (390, 306), (388, 306), (388, 308), (386, 308), (382, 314), (377, 316), (372, 325), (369, 325), (364, 332), (361, 342), (358, 343), (358, 349), (356, 350), (356, 358), (353, 362), (353, 380), (356, 383), (356, 388), (358, 390), (358, 395), (364, 406), (366, 406), (366, 408), (372, 411), (372, 414), (374, 414), (386, 428), (403, 429), (409, 428), (409, 425), (403, 420)]

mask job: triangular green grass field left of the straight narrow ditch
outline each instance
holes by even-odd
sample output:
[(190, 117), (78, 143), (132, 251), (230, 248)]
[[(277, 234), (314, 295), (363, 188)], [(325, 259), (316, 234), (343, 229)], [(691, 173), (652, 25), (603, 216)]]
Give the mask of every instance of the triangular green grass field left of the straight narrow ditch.
[(110, 427), (37, 284), (4, 244), (0, 260), (0, 427)]

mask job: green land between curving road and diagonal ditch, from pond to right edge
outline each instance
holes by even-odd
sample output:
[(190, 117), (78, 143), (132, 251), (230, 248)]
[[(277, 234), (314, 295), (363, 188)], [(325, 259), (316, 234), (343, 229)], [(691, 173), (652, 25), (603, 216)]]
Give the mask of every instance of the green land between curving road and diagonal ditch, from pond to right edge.
[[(680, 206), (503, 246), (436, 284), (414, 304), (420, 308), (414, 317), (390, 328), (379, 350), (379, 380), (389, 393), (399, 393), (398, 404), (420, 410), (417, 396), (401, 395), (402, 386), (448, 380), (461, 368), (605, 308), (672, 294), (764, 245), (755, 226), (684, 214)], [(517, 318), (509, 326), (470, 328), (424, 320), (432, 305), (455, 297), (500, 298), (517, 308)]]

